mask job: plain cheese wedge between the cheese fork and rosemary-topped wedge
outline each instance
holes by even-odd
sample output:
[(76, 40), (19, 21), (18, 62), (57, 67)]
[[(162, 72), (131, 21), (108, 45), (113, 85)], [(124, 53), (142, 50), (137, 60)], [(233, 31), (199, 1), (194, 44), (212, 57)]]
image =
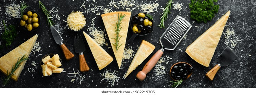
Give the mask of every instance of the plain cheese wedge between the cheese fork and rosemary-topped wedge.
[(114, 60), (113, 57), (111, 57), (104, 49), (102, 49), (101, 46), (95, 40), (93, 40), (92, 37), (90, 37), (85, 32), (83, 33), (90, 47), (90, 50), (92, 51), (93, 57), (98, 65), (99, 70), (105, 68), (109, 63)]

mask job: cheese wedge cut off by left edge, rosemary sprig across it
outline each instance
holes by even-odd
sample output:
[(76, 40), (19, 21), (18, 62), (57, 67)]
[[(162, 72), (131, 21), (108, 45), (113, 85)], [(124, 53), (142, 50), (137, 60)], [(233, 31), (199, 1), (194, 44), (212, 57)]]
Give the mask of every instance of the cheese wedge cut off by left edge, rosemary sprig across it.
[[(20, 46), (15, 48), (14, 50), (10, 51), (9, 53), (5, 54), (0, 58), (0, 70), (3, 72), (5, 75), (7, 75), (7, 70), (8, 72), (11, 72), (12, 66), (15, 65), (17, 62), (18, 58), (21, 59), (23, 55), (29, 56), (35, 42), (37, 39), (38, 35), (33, 36), (32, 38), (28, 39), (26, 42), (22, 43)], [(13, 80), (17, 81), (21, 71), (24, 68), (24, 65), (27, 60), (23, 61), (21, 63), (21, 66), (16, 69), (14, 72), (15, 74), (11, 77)]]

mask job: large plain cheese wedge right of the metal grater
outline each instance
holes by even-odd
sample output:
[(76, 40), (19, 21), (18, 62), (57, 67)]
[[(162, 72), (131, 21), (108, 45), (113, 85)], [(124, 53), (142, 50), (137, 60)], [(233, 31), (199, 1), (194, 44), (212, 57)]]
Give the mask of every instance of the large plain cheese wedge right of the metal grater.
[(190, 44), (186, 53), (199, 64), (209, 67), (212, 56), (220, 41), (220, 37), (228, 21), (230, 11), (223, 15), (214, 25), (212, 25), (204, 34), (199, 36)]

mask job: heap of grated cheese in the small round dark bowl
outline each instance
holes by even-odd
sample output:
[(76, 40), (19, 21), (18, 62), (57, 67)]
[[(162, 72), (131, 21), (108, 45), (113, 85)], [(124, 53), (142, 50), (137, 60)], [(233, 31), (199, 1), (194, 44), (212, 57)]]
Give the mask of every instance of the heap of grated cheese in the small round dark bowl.
[(81, 30), (85, 24), (85, 17), (82, 14), (82, 12), (72, 12), (67, 19), (68, 25), (69, 25), (69, 29), (74, 30), (74, 31), (79, 31)]

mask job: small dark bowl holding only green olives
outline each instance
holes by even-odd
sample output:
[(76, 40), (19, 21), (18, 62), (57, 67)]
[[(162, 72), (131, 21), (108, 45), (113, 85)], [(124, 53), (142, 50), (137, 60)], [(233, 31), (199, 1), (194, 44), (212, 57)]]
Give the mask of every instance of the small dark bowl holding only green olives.
[(26, 32), (35, 32), (40, 28), (41, 22), (41, 17), (37, 12), (27, 11), (23, 13), (20, 25)]

